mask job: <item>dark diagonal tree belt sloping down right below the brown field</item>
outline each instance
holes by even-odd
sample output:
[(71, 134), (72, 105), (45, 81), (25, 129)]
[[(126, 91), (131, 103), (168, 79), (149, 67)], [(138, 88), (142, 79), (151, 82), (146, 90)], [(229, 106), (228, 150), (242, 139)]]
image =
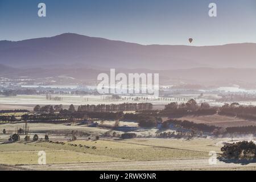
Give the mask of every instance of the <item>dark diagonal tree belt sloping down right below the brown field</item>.
[(209, 126), (209, 125), (205, 125), (204, 123), (194, 123), (191, 121), (180, 121), (177, 119), (170, 119), (168, 121), (163, 122), (162, 127), (163, 128), (168, 128), (168, 126), (170, 124), (174, 124), (180, 127), (183, 127), (184, 129), (195, 129), (195, 130), (199, 130), (199, 131), (205, 131), (208, 133), (213, 133), (214, 130), (220, 130), (221, 127), (217, 127), (217, 126)]

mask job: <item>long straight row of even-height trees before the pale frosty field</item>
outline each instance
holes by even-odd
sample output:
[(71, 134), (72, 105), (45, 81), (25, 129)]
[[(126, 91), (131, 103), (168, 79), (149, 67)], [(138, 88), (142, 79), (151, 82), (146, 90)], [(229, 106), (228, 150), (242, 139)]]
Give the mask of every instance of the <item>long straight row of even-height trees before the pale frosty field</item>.
[(77, 111), (137, 111), (137, 110), (152, 110), (151, 103), (123, 103), (123, 104), (110, 104), (110, 105), (81, 105)]

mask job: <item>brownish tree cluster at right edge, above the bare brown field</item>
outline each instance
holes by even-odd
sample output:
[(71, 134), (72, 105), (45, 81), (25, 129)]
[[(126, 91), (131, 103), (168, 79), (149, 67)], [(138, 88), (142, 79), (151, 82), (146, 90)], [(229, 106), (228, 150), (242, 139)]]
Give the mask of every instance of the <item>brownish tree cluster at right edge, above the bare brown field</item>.
[(256, 106), (242, 106), (237, 102), (220, 107), (218, 114), (244, 119), (256, 119)]

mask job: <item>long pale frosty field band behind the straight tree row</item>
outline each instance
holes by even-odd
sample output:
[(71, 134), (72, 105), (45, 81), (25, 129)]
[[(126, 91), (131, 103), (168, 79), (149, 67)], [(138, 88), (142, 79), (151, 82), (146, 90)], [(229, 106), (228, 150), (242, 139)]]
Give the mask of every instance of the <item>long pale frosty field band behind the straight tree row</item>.
[[(123, 96), (121, 100), (109, 100), (108, 97), (110, 96), (70, 96), (70, 95), (53, 95), (53, 97), (61, 97), (60, 101), (54, 100), (47, 100), (46, 96), (43, 95), (22, 95), (22, 96), (15, 96), (15, 97), (4, 97), (0, 96), (0, 109), (23, 109), (23, 108), (30, 108), (35, 105), (70, 105), (73, 104), (75, 106), (79, 105), (97, 105), (97, 104), (121, 104), (124, 102), (129, 103), (141, 103), (141, 102), (150, 102), (156, 105), (156, 108), (161, 109), (170, 102), (176, 101), (175, 98), (154, 98), (152, 96), (148, 96), (148, 100), (135, 100), (136, 97), (145, 97), (146, 96)], [(188, 100), (188, 96), (180, 96), (180, 98), (184, 98), (184, 101)], [(191, 96), (194, 98), (194, 96)], [(178, 101), (181, 102), (181, 101)], [(15, 107), (16, 106), (16, 107)]]

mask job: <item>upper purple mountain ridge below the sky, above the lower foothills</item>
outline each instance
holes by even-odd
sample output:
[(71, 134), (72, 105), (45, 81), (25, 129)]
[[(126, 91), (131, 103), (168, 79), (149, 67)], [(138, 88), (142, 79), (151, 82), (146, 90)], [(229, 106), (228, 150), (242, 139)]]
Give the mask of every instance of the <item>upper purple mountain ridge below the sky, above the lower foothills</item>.
[(202, 47), (144, 46), (70, 33), (18, 42), (0, 41), (0, 64), (16, 68), (52, 64), (156, 70), (256, 68), (255, 58), (255, 43)]

